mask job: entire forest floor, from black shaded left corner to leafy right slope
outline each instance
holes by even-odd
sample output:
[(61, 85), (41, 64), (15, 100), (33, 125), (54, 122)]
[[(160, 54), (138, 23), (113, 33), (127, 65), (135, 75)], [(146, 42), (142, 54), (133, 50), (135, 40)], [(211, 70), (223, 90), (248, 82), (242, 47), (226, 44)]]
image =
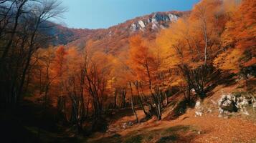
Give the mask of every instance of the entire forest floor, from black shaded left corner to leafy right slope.
[[(255, 79), (251, 81), (254, 89)], [(195, 117), (195, 109), (186, 112), (177, 119), (169, 119), (169, 113), (181, 95), (169, 98), (168, 106), (163, 110), (161, 121), (155, 117), (147, 122), (136, 124), (131, 109), (115, 109), (106, 117), (108, 126), (104, 132), (95, 132), (89, 137), (73, 136), (67, 128), (54, 123), (54, 110), (42, 112), (42, 105), (24, 102), (19, 111), (0, 111), (1, 141), (4, 142), (87, 142), (87, 143), (140, 143), (140, 142), (223, 142), (256, 143), (256, 109), (248, 107), (249, 116), (232, 113), (228, 118), (218, 117), (218, 107), (214, 102), (222, 93), (243, 92), (244, 83), (219, 85), (212, 94), (204, 99), (205, 109), (202, 117)], [(210, 109), (211, 112), (208, 112)], [(141, 109), (136, 109), (138, 118), (144, 117)], [(131, 124), (133, 123), (133, 124)], [(124, 127), (124, 124), (125, 127)], [(70, 129), (70, 128), (69, 128)]]

